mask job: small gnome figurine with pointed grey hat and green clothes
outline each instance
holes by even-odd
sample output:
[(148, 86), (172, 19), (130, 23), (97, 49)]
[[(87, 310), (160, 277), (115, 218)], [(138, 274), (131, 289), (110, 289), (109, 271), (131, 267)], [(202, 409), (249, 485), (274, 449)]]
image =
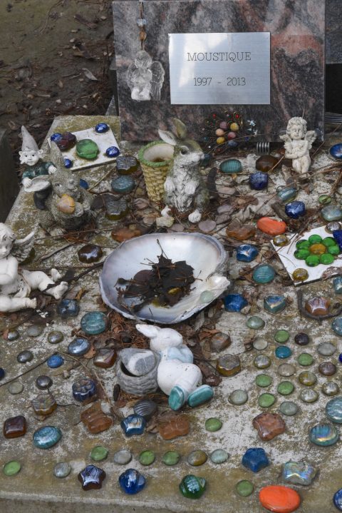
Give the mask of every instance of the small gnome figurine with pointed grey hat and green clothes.
[(19, 155), (20, 163), (26, 164), (22, 180), (24, 189), (27, 189), (31, 186), (33, 178), (51, 175), (56, 172), (56, 167), (53, 166), (52, 162), (44, 162), (41, 160), (42, 151), (38, 148), (36, 141), (25, 126), (21, 127), (21, 135), (23, 136), (23, 143)]

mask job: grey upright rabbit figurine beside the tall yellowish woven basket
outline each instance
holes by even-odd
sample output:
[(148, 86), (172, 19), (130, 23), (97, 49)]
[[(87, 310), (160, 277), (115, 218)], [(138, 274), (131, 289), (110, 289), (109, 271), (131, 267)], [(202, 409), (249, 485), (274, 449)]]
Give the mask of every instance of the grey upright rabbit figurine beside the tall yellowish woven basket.
[(204, 153), (196, 141), (187, 138), (187, 127), (180, 119), (172, 118), (172, 123), (175, 134), (158, 130), (162, 141), (175, 147), (173, 165), (164, 184), (166, 206), (162, 216), (169, 217), (172, 207), (181, 213), (192, 210), (188, 219), (190, 223), (198, 223), (209, 204), (209, 191), (199, 172), (199, 163)]

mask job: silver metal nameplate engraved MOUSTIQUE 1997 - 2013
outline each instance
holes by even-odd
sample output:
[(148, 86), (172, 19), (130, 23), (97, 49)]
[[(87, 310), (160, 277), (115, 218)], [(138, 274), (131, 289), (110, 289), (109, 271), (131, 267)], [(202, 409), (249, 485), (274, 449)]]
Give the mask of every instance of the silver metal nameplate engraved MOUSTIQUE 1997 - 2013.
[(270, 103), (270, 33), (169, 34), (175, 105)]

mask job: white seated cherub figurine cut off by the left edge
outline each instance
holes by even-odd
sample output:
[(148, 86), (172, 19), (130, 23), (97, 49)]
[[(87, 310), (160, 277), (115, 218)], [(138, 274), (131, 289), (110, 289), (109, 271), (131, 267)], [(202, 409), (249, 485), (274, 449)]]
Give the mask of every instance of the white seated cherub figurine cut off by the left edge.
[[(61, 282), (58, 270), (51, 269), (51, 278), (42, 271), (19, 269), (34, 243), (35, 230), (24, 239), (16, 239), (15, 233), (0, 223), (0, 312), (17, 312), (24, 308), (36, 308), (37, 300), (28, 296), (31, 290), (41, 290), (55, 299), (61, 299), (68, 283)], [(51, 286), (55, 285), (55, 286)]]

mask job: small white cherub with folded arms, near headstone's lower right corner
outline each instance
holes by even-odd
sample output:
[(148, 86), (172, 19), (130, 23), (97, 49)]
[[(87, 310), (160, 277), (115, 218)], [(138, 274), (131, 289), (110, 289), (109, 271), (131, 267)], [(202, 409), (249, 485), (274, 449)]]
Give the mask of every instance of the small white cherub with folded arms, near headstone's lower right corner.
[(302, 178), (307, 178), (311, 164), (309, 150), (316, 139), (316, 132), (308, 132), (305, 119), (295, 117), (289, 120), (286, 134), (280, 138), (285, 141), (285, 157), (292, 159), (294, 171)]

